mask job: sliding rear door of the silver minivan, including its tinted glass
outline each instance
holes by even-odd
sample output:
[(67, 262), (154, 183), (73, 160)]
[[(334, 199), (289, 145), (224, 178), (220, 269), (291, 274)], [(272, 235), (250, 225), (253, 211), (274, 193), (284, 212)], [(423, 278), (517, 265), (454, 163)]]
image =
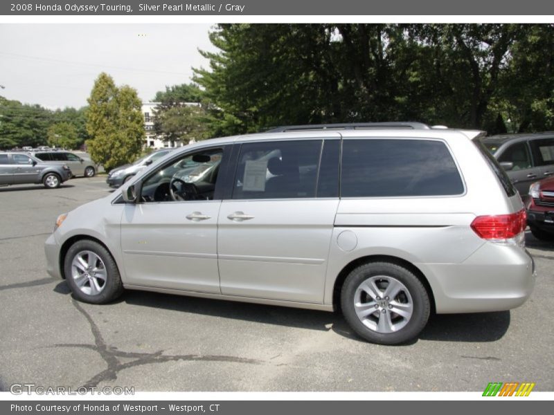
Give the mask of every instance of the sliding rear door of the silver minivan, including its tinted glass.
[(323, 302), (339, 138), (240, 145), (218, 220), (222, 294)]

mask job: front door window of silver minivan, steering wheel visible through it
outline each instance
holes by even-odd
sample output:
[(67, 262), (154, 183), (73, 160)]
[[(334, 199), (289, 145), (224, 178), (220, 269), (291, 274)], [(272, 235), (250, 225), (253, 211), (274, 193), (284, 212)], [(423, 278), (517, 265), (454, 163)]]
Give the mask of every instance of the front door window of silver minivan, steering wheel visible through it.
[(222, 158), (223, 149), (204, 149), (162, 165), (144, 181), (142, 200), (213, 200)]

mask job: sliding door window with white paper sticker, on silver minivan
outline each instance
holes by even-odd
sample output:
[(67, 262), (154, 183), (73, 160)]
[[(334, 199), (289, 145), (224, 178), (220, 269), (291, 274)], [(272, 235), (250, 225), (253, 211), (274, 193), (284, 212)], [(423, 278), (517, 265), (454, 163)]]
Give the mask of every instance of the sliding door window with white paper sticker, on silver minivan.
[(321, 140), (243, 144), (233, 199), (315, 197), (321, 144)]

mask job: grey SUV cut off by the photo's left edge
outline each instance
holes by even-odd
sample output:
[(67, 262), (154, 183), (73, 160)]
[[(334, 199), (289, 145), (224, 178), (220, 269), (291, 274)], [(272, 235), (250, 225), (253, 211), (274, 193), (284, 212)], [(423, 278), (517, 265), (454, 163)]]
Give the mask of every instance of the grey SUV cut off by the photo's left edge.
[(0, 152), (0, 185), (42, 184), (55, 189), (69, 178), (71, 169), (67, 165), (45, 163), (14, 151)]

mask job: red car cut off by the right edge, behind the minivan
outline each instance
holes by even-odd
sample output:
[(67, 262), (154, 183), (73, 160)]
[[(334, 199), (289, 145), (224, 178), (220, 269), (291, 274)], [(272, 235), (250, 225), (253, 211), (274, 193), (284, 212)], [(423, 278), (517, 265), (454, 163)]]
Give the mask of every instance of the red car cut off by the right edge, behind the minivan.
[(554, 177), (530, 185), (529, 195), (526, 210), (531, 233), (537, 239), (554, 241)]

